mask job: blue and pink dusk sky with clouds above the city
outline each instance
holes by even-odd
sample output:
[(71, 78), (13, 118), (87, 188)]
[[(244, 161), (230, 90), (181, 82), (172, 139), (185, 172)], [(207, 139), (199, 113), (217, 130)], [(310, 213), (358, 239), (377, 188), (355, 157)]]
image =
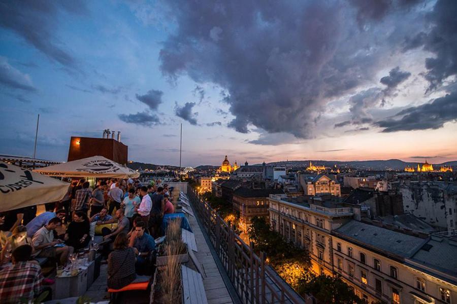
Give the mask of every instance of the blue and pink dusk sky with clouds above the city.
[(0, 154), (457, 160), (457, 1), (1, 1)]

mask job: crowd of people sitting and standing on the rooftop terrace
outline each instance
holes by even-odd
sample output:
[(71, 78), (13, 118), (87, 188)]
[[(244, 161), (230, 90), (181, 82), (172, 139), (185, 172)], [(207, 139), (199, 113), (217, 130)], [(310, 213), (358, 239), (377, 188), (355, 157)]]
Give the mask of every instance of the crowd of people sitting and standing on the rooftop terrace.
[[(0, 213), (0, 302), (32, 300), (42, 293), (40, 258), (66, 265), (69, 255), (87, 248), (95, 232), (103, 236), (108, 287), (122, 288), (150, 275), (154, 239), (162, 235), (164, 214), (174, 213), (171, 189), (158, 180), (85, 179), (70, 182), (66, 195), (45, 204)], [(139, 277), (138, 277), (139, 276)], [(50, 289), (45, 290), (50, 298)]]

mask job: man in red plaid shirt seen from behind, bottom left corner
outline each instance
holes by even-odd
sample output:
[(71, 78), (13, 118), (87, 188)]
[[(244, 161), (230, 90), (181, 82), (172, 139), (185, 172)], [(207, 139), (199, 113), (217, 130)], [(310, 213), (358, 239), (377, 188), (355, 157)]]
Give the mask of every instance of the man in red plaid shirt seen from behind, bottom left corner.
[[(40, 293), (44, 292), (40, 265), (28, 261), (31, 251), (30, 245), (17, 247), (11, 258), (13, 264), (0, 271), (0, 299), (2, 299), (2, 303), (33, 302)], [(51, 289), (46, 288), (46, 291), (49, 293), (44, 301), (51, 300)]]

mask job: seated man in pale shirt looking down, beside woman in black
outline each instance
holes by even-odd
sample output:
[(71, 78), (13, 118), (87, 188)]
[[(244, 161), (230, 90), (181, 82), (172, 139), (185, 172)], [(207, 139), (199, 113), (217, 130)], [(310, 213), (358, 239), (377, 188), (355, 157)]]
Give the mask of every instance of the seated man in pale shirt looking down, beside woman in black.
[(35, 248), (34, 256), (54, 258), (59, 255), (60, 264), (65, 265), (67, 263), (68, 255), (73, 253), (73, 247), (54, 247), (56, 244), (62, 243), (62, 240), (54, 240), (54, 230), (61, 225), (62, 220), (54, 217), (35, 233), (32, 238), (32, 246)]

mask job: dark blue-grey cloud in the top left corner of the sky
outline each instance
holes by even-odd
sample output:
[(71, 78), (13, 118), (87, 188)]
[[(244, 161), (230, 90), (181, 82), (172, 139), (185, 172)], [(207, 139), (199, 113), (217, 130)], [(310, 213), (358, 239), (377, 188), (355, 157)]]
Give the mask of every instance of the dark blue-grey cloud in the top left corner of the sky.
[(78, 0), (67, 1), (5, 1), (0, 5), (0, 26), (14, 31), (49, 58), (78, 69), (77, 60), (54, 36), (58, 28), (59, 11), (83, 14), (86, 6)]

